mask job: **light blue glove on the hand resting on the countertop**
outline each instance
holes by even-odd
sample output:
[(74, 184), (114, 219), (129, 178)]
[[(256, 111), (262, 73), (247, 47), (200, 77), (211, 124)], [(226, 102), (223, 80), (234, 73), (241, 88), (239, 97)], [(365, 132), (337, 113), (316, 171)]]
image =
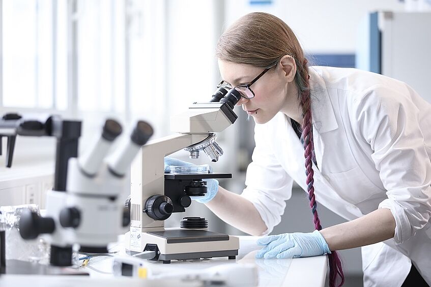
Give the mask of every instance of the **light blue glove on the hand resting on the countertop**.
[(265, 247), (256, 253), (256, 258), (286, 259), (331, 253), (325, 238), (317, 230), (311, 233), (271, 235), (258, 239), (257, 244)]

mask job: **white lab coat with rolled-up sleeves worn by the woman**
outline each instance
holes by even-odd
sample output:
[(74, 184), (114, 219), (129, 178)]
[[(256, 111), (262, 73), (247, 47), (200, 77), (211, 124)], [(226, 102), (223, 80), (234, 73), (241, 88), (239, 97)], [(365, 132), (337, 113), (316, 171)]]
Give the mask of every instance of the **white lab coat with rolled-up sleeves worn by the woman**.
[[(318, 203), (348, 220), (389, 208), (396, 221), (393, 239), (362, 247), (364, 286), (400, 286), (411, 262), (431, 284), (431, 105), (382, 75), (309, 70)], [(282, 113), (255, 125), (255, 143), (242, 196), (268, 234), (293, 181), (306, 190), (304, 149)]]

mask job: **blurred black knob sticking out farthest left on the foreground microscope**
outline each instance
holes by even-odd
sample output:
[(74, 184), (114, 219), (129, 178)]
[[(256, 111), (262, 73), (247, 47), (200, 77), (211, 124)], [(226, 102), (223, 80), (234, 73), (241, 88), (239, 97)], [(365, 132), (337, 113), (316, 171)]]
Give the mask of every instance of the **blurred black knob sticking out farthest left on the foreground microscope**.
[(19, 234), (23, 239), (35, 239), (42, 233), (53, 233), (54, 219), (41, 217), (36, 212), (24, 210), (19, 218)]

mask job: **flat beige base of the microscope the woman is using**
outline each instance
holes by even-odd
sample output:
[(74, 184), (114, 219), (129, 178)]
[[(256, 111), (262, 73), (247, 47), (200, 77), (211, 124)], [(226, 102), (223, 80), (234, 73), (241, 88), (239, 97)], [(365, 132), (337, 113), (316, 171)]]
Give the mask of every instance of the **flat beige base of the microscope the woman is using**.
[[(213, 257), (235, 259), (238, 255), (239, 239), (235, 236), (195, 229), (169, 229), (156, 232), (141, 232), (141, 246), (132, 245), (130, 253), (136, 254), (154, 250), (157, 256), (152, 260), (170, 263), (171, 260), (191, 260)], [(133, 242), (131, 242), (133, 243)]]

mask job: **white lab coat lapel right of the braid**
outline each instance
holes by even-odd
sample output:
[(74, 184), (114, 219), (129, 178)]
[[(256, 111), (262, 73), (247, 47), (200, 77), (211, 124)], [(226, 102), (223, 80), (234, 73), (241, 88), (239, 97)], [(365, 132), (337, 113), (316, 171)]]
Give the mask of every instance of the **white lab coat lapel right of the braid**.
[(325, 81), (314, 67), (309, 67), (308, 73), (310, 75), (313, 129), (317, 130), (319, 134), (338, 129), (338, 123)]

